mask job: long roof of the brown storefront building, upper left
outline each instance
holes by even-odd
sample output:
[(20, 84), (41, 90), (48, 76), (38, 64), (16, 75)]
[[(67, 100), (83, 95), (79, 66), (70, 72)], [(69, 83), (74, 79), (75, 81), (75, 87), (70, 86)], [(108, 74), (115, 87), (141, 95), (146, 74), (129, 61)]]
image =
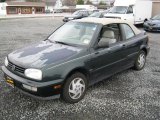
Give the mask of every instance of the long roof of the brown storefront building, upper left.
[(8, 6), (35, 6), (45, 7), (45, 2), (6, 2)]

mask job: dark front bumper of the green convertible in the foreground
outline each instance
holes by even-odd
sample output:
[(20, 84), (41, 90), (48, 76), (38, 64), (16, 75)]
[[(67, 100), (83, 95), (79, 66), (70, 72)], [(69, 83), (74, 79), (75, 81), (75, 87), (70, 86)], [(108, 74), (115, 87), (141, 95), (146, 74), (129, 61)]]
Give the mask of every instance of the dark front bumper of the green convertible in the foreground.
[[(20, 76), (17, 76), (16, 74), (13, 74), (10, 72), (5, 66), (2, 66), (2, 71), (4, 73), (4, 78), (10, 77), (12, 78), (14, 82), (14, 87), (18, 88), (20, 91), (23, 93), (38, 98), (38, 99), (54, 99), (54, 98), (59, 98), (61, 89), (62, 88), (54, 88), (54, 86), (57, 85), (62, 85), (63, 79), (59, 80), (53, 80), (49, 82), (37, 82), (37, 81), (31, 81), (26, 78), (22, 78)], [(28, 85), (31, 87), (36, 87), (37, 91), (31, 91), (29, 89), (24, 88), (23, 85)]]

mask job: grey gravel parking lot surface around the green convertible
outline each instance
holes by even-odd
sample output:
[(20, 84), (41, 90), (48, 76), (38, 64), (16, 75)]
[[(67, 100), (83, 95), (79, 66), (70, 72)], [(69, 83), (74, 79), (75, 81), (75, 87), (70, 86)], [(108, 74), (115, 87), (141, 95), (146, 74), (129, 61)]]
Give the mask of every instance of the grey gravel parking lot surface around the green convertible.
[[(0, 21), (0, 66), (15, 49), (44, 40), (61, 18)], [(147, 33), (151, 51), (142, 71), (128, 69), (91, 86), (82, 101), (41, 101), (14, 90), (0, 69), (0, 120), (155, 120), (160, 118), (160, 33)]]

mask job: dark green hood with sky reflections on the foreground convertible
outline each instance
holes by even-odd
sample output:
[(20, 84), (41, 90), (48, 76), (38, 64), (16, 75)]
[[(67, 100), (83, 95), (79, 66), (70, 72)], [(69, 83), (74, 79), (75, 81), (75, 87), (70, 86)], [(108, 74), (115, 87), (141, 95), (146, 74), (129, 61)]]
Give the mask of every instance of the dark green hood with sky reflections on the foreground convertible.
[(28, 68), (42, 68), (46, 65), (69, 60), (80, 52), (80, 48), (43, 41), (8, 55), (10, 62)]

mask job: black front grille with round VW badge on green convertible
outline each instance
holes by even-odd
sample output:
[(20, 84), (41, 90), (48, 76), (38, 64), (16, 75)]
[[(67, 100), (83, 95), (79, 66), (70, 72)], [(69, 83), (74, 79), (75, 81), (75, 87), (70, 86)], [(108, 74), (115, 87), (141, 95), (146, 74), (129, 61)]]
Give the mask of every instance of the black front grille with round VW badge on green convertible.
[(8, 63), (8, 68), (11, 69), (12, 71), (23, 73), (23, 74), (24, 74), (24, 71), (25, 71), (25, 68), (17, 66), (15, 64), (11, 63), (11, 62)]

